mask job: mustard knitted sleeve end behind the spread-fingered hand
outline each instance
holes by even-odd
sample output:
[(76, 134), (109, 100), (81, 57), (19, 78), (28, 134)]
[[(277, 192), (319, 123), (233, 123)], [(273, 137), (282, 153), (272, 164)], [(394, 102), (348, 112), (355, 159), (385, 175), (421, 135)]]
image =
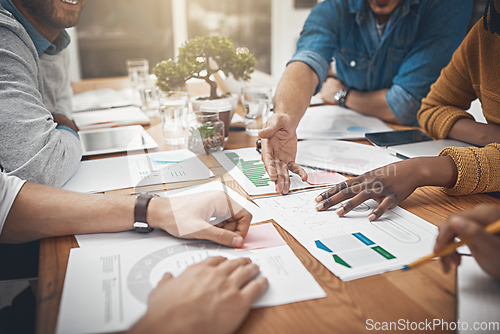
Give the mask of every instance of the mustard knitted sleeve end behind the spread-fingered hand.
[(500, 144), (484, 148), (447, 147), (439, 155), (451, 157), (458, 170), (455, 186), (443, 188), (448, 195), (500, 191)]

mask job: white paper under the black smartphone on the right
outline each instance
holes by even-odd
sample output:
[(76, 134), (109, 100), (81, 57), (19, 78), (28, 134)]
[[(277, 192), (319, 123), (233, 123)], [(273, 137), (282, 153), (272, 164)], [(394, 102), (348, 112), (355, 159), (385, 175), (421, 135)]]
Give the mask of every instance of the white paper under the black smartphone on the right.
[(437, 157), (439, 152), (449, 146), (469, 147), (473, 145), (459, 140), (441, 139), (389, 146), (387, 150), (393, 155), (399, 155), (403, 159), (409, 159), (416, 157)]

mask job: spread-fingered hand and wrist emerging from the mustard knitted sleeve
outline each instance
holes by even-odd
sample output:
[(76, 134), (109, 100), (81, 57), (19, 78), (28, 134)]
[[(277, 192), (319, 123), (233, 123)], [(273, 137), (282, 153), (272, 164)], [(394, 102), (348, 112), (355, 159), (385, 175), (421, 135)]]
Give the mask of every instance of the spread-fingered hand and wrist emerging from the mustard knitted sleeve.
[(342, 217), (368, 199), (374, 199), (380, 204), (368, 218), (376, 220), (418, 187), (453, 187), (456, 179), (457, 168), (450, 157), (408, 159), (337, 184), (316, 198), (316, 208), (323, 211), (344, 202), (337, 208), (338, 215)]

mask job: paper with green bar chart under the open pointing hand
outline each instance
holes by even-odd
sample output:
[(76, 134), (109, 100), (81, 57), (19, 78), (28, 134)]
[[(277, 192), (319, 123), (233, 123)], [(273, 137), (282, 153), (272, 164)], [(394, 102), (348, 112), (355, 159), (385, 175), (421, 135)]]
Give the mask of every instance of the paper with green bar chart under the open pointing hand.
[[(269, 179), (260, 153), (255, 148), (225, 150), (212, 155), (250, 196), (276, 193), (275, 184)], [(314, 185), (303, 182), (300, 176), (290, 173), (290, 190), (311, 187)]]

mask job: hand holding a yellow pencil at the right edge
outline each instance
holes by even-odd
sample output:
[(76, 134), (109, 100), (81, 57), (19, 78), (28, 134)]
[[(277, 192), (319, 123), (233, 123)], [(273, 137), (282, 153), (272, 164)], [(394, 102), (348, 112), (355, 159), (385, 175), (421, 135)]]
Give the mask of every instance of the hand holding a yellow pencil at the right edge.
[[(452, 215), (439, 226), (434, 252), (445, 248), (456, 237), (469, 240), (472, 256), (485, 272), (500, 280), (500, 236), (487, 233), (484, 228), (500, 219), (500, 208), (496, 205), (480, 205), (476, 208)], [(451, 264), (460, 264), (457, 252), (441, 258), (444, 272)]]

